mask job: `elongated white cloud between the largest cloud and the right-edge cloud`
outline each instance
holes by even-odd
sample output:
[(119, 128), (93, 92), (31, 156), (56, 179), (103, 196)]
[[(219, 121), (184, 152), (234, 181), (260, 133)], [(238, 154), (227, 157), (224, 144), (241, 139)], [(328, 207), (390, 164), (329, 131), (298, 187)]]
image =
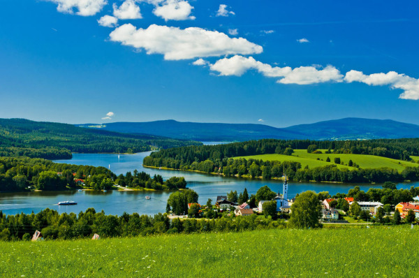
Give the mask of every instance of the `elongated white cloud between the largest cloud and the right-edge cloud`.
[(210, 66), (212, 71), (219, 72), (219, 75), (243, 75), (253, 69), (270, 78), (281, 78), (277, 82), (282, 84), (308, 85), (321, 82), (342, 82), (343, 75), (334, 66), (319, 68), (318, 66), (301, 66), (291, 68), (285, 66), (272, 67), (256, 61), (253, 57), (242, 57), (235, 55), (231, 58), (223, 58)]

